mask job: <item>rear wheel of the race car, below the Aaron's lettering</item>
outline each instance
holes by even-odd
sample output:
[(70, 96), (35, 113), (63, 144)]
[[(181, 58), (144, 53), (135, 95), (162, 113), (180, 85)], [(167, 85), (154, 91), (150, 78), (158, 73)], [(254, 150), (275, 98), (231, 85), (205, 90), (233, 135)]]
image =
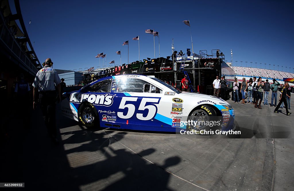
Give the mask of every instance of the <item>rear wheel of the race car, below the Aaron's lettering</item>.
[(98, 127), (99, 117), (96, 108), (89, 102), (83, 103), (78, 109), (78, 121), (87, 128)]

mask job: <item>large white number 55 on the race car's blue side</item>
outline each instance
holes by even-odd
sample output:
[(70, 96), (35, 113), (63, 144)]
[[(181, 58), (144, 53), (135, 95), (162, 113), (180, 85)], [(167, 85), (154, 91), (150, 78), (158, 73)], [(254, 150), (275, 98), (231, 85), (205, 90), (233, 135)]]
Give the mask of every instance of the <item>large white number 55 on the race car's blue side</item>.
[[(135, 110), (136, 110), (136, 107), (134, 104), (126, 104), (126, 102), (127, 101), (136, 102), (137, 99), (138, 99), (138, 97), (122, 97), (121, 104), (119, 105), (118, 109), (128, 108), (128, 113), (126, 115), (123, 115), (123, 112), (117, 112), (117, 116), (122, 119), (129, 119), (129, 118), (133, 117)], [(159, 98), (147, 98), (147, 97), (142, 98), (138, 110), (144, 111), (144, 110), (148, 109), (148, 114), (146, 117), (143, 117), (142, 113), (137, 113), (136, 117), (140, 120), (150, 120), (156, 114), (157, 107), (154, 104), (147, 104), (147, 102), (158, 103)]]

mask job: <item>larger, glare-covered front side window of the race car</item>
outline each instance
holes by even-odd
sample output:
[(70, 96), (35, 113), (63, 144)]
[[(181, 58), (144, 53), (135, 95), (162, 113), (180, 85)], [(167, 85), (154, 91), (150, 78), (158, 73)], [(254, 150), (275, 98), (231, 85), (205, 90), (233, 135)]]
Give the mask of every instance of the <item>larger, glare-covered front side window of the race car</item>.
[(162, 90), (138, 78), (116, 79), (114, 92), (162, 93)]

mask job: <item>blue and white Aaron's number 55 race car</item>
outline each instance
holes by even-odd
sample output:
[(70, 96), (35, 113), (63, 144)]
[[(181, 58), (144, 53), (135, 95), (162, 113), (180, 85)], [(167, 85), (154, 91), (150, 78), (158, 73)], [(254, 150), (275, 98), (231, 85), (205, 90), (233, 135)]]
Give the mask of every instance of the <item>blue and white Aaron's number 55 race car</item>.
[(63, 96), (62, 114), (86, 127), (170, 132), (235, 127), (234, 110), (223, 99), (181, 92), (145, 75), (101, 78)]

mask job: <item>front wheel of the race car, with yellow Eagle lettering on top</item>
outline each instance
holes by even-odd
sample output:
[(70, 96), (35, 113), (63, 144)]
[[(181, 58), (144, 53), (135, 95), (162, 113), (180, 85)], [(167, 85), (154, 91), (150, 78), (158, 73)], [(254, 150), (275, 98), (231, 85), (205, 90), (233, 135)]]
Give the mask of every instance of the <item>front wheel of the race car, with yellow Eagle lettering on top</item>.
[[(202, 134), (204, 131), (213, 130), (212, 127), (209, 126), (210, 121), (216, 120), (216, 112), (209, 105), (201, 105), (194, 109), (188, 116), (188, 120), (198, 122), (197, 125), (187, 125), (188, 131), (196, 131), (198, 134)], [(204, 123), (199, 123), (204, 121)], [(208, 123), (208, 124), (207, 124)], [(195, 124), (195, 123), (194, 123)]]

